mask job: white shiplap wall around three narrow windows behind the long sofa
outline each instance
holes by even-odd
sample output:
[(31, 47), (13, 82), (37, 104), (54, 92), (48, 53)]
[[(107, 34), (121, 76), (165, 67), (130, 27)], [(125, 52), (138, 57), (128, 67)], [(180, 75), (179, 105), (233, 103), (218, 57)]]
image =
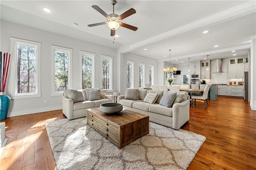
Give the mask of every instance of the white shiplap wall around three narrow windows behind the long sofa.
[(126, 63), (127, 61), (133, 62), (134, 66), (134, 88), (139, 88), (139, 65), (145, 65), (145, 80), (144, 83), (149, 83), (149, 65), (154, 66), (154, 83), (157, 84), (158, 82), (158, 75), (157, 75), (157, 61), (154, 59), (149, 59), (146, 57), (142, 57), (139, 55), (134, 55), (131, 53), (125, 53), (123, 55), (123, 62), (122, 62), (122, 77), (121, 77), (121, 88), (120, 94), (124, 95), (126, 91)]

